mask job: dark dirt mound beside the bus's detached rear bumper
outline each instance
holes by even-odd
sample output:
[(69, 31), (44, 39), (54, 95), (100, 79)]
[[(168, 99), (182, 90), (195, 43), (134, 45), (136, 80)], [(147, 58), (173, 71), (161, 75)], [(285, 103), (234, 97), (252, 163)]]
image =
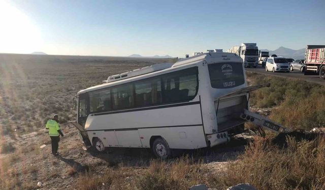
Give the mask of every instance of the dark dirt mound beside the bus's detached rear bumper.
[(272, 139), (272, 143), (278, 145), (279, 147), (287, 147), (286, 138), (287, 137), (295, 137), (297, 141), (302, 140), (314, 140), (317, 137), (325, 135), (324, 132), (309, 132), (304, 130), (296, 130), (289, 133), (280, 133), (276, 137)]

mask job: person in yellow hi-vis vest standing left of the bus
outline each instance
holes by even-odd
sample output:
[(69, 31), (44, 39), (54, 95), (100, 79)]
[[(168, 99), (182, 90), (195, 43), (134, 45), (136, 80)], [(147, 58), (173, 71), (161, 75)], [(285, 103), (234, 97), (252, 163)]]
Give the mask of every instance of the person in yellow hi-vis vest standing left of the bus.
[(57, 156), (58, 155), (57, 149), (59, 147), (60, 135), (63, 137), (63, 133), (59, 125), (59, 116), (55, 114), (53, 118), (46, 123), (45, 128), (49, 130), (49, 135), (52, 144), (52, 154), (54, 156)]

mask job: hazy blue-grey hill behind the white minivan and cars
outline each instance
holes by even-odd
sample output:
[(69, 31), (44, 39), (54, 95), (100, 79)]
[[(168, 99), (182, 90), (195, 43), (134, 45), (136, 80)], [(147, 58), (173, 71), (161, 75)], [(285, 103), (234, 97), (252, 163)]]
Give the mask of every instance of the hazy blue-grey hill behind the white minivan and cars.
[(267, 49), (261, 49), (261, 51), (268, 51), (269, 55), (276, 54), (277, 56), (282, 56), (285, 58), (294, 58), (294, 59), (304, 59), (305, 58), (305, 48), (299, 50), (293, 50), (285, 47), (279, 47), (278, 49), (272, 51)]

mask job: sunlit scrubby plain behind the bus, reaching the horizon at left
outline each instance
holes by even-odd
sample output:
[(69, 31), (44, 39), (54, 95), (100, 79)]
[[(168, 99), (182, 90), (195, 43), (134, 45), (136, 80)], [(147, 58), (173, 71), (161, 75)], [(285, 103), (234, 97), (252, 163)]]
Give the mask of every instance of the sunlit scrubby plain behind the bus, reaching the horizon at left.
[[(53, 113), (75, 119), (72, 98), (109, 75), (173, 59), (0, 54), (1, 134), (14, 137), (44, 127)], [(55, 92), (55, 93), (53, 93)]]

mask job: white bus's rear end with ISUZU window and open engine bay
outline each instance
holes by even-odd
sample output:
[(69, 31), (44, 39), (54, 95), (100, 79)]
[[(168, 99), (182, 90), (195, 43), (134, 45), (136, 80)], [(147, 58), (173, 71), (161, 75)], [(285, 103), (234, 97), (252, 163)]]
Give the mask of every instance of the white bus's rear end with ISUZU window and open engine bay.
[(240, 115), (248, 109), (248, 93), (232, 93), (247, 87), (247, 83), (242, 59), (231, 53), (211, 57), (203, 74), (209, 76), (204, 79), (209, 93), (202, 94), (203, 124), (212, 147), (244, 130), (245, 120)]

